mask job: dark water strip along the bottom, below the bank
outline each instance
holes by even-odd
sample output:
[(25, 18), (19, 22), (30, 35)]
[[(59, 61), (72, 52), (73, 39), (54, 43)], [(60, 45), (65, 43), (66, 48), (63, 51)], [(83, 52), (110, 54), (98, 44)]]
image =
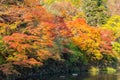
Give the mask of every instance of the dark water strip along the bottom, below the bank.
[[(75, 73), (76, 74), (76, 73)], [(120, 80), (120, 72), (114, 74), (99, 73), (98, 75), (90, 75), (89, 73), (71, 74), (54, 74), (44, 76), (28, 77), (22, 80)]]

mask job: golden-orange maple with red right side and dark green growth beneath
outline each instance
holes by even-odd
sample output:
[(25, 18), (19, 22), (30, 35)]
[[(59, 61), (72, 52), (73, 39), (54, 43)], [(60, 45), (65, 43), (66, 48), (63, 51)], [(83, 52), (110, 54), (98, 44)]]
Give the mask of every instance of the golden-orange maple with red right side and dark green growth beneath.
[(89, 26), (81, 18), (68, 21), (66, 24), (72, 33), (70, 40), (79, 48), (76, 50), (79, 52), (74, 52), (73, 49), (68, 48), (73, 51), (73, 55), (79, 54), (77, 57), (81, 58), (81, 61), (93, 65), (94, 63), (99, 64), (99, 61), (102, 61), (103, 65), (106, 65), (106, 62), (114, 63), (116, 54), (113, 51), (114, 33), (111, 30)]

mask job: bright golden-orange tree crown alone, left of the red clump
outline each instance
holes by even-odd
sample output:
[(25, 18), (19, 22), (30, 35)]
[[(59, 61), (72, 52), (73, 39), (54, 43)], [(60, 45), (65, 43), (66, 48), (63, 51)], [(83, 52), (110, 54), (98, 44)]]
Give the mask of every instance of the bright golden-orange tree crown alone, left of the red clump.
[(71, 40), (74, 44), (86, 51), (88, 56), (93, 54), (95, 56), (93, 56), (93, 59), (102, 58), (99, 51), (100, 34), (98, 29), (88, 26), (84, 19), (76, 19), (68, 22), (67, 25), (72, 31), (73, 37)]

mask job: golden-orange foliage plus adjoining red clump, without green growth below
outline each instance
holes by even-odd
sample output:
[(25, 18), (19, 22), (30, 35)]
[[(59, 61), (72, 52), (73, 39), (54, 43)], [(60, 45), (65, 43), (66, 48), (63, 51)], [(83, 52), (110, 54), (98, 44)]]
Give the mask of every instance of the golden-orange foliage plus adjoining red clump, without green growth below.
[(102, 54), (112, 54), (112, 31), (89, 26), (84, 19), (67, 22), (72, 42), (85, 51), (91, 59), (102, 59)]

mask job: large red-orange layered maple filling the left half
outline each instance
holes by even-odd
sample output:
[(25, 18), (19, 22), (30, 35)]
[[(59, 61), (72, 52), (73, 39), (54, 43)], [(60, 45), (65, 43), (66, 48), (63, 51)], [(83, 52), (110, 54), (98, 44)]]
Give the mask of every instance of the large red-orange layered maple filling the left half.
[(0, 32), (7, 47), (6, 61), (13, 64), (23, 65), (24, 62), (24, 65), (25, 63), (32, 65), (32, 62), (29, 62), (32, 60), (33, 63), (41, 65), (44, 60), (52, 57), (50, 49), (55, 44), (53, 41), (70, 36), (64, 19), (47, 13), (42, 6), (13, 5), (6, 16), (9, 16), (8, 19), (12, 16), (14, 16), (12, 20), (16, 19), (13, 22), (2, 22), (0, 25)]

